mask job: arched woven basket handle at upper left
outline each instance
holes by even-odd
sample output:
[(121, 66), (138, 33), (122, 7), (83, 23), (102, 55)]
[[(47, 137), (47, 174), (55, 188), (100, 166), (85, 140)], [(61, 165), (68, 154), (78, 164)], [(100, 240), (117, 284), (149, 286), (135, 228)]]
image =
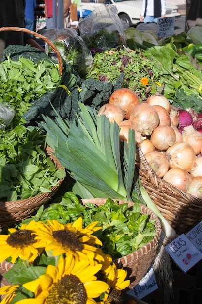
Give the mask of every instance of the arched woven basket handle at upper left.
[(26, 32), (26, 33), (32, 34), (33, 36), (41, 38), (42, 40), (46, 41), (58, 57), (59, 72), (62, 75), (62, 57), (61, 57), (61, 54), (57, 50), (57, 48), (54, 46), (54, 44), (52, 42), (50, 42), (50, 40), (47, 39), (47, 37), (45, 37), (41, 34), (38, 34), (34, 31), (31, 31), (29, 29), (26, 29), (26, 28), (19, 28), (19, 27), (14, 27), (14, 26), (0, 28), (0, 32), (4, 32), (4, 31)]

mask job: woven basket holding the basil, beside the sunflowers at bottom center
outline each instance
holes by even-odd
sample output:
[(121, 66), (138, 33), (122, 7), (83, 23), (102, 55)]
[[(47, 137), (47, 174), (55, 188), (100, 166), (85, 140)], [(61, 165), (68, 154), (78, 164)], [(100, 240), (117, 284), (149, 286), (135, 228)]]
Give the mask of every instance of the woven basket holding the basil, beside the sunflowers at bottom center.
[[(115, 200), (114, 200), (115, 201)], [(129, 206), (133, 205), (133, 202), (119, 201), (118, 203), (128, 203)], [(85, 203), (94, 203), (96, 205), (103, 205), (106, 202), (106, 199), (82, 199), (81, 202)], [(141, 205), (141, 213), (149, 214), (150, 219), (155, 219), (156, 235), (154, 239), (149, 243), (138, 249), (137, 251), (130, 253), (126, 256), (123, 256), (117, 260), (114, 260), (115, 264), (118, 267), (123, 267), (124, 270), (127, 270), (127, 278), (130, 279), (129, 288), (136, 286), (143, 276), (147, 273), (156, 253), (158, 247), (158, 241), (161, 235), (161, 223), (157, 215), (148, 209), (146, 206)]]

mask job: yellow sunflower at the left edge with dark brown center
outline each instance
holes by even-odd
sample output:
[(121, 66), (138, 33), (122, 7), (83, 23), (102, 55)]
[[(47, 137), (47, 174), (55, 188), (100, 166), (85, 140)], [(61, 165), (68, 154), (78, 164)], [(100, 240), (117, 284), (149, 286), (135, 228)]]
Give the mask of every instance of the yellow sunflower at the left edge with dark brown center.
[(11, 257), (11, 262), (15, 263), (19, 257), (32, 263), (45, 246), (43, 240), (35, 239), (37, 227), (32, 220), (28, 225), (22, 224), (20, 229), (8, 229), (8, 235), (0, 235), (0, 262)]

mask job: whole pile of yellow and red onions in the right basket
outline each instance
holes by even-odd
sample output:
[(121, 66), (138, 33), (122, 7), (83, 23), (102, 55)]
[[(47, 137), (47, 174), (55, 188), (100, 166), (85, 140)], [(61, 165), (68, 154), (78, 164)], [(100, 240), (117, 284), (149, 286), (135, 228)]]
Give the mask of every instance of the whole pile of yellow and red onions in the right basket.
[[(111, 94), (98, 115), (119, 125), (120, 141), (128, 143), (129, 129), (135, 131), (136, 145), (158, 177), (202, 198), (202, 113), (175, 108), (161, 94), (140, 102), (123, 88)], [(136, 164), (144, 169), (138, 154)]]

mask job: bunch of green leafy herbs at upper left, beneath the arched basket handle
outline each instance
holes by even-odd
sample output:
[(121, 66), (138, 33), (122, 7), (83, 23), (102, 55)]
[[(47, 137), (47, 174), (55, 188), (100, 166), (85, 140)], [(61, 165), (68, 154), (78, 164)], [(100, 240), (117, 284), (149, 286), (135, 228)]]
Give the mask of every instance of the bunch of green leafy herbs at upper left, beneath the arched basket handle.
[(57, 87), (60, 79), (59, 69), (51, 59), (34, 63), (28, 58), (14, 61), (8, 56), (1, 62), (0, 102), (15, 110), (11, 127), (25, 123), (22, 116), (31, 107), (31, 101)]

